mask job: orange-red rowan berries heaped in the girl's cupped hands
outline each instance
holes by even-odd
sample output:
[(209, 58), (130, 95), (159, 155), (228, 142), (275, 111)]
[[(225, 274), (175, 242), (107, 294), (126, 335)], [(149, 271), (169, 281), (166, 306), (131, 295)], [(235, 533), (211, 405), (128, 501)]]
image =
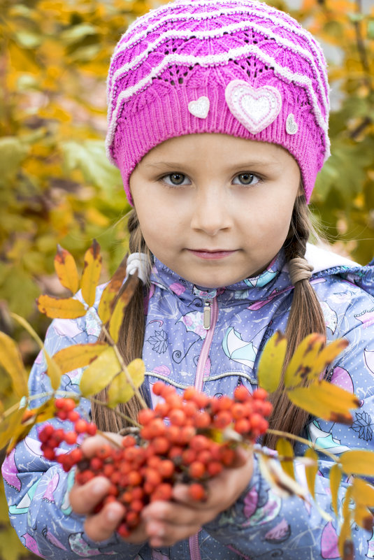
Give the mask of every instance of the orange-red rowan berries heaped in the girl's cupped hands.
[[(122, 446), (102, 445), (91, 458), (83, 457), (80, 448), (75, 447), (57, 457), (64, 471), (75, 465), (78, 467), (75, 475), (78, 484), (85, 484), (99, 475), (110, 480), (110, 490), (95, 512), (107, 503), (122, 503), (124, 517), (117, 527), (122, 537), (129, 536), (139, 524), (145, 505), (154, 500), (171, 499), (177, 482), (189, 485), (192, 499), (206, 499), (206, 482), (224, 467), (234, 465), (234, 447), (238, 441), (254, 442), (266, 432), (265, 417), (272, 410), (264, 389), (257, 389), (251, 395), (243, 385), (237, 387), (233, 399), (229, 396), (210, 398), (194, 387), (187, 388), (180, 396), (161, 381), (154, 384), (153, 392), (163, 400), (154, 410), (144, 408), (138, 413), (142, 427), (135, 436), (124, 436)], [(77, 433), (91, 435), (96, 428), (94, 424), (75, 418), (74, 401), (59, 401), (65, 403), (57, 406), (57, 417), (64, 419), (66, 415), (66, 419), (75, 422), (75, 432), (64, 433), (45, 426), (39, 438), (48, 459), (55, 452), (55, 444), (58, 447), (64, 440), (73, 445)]]

